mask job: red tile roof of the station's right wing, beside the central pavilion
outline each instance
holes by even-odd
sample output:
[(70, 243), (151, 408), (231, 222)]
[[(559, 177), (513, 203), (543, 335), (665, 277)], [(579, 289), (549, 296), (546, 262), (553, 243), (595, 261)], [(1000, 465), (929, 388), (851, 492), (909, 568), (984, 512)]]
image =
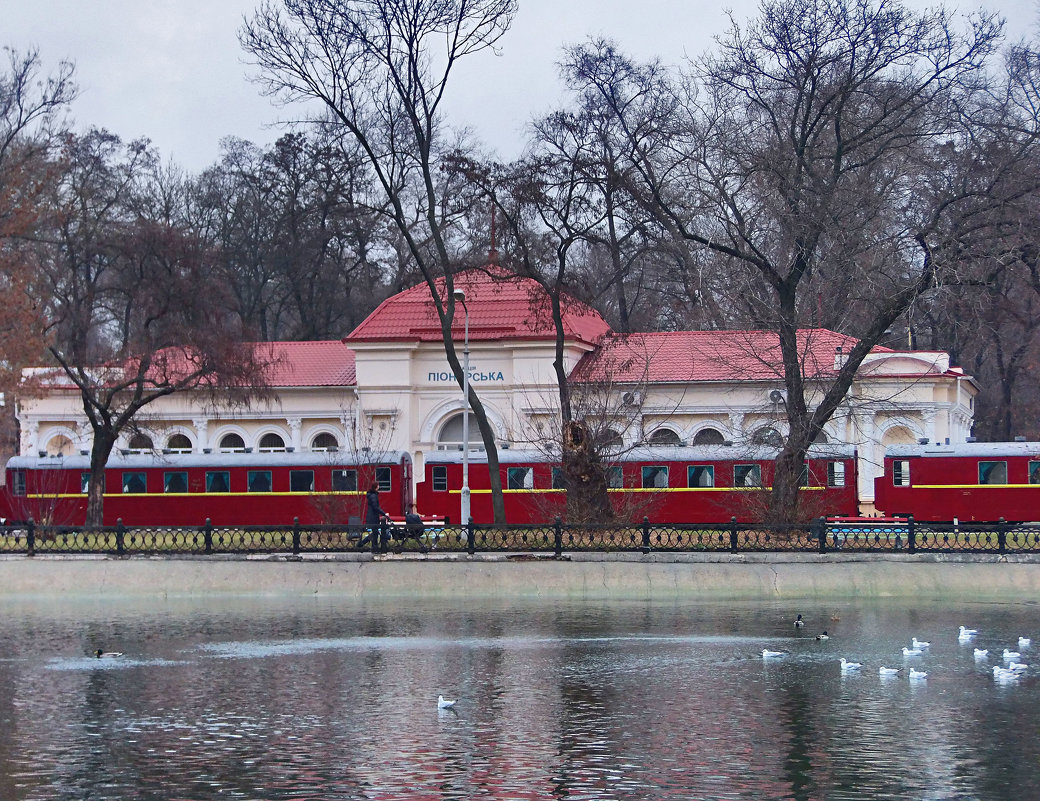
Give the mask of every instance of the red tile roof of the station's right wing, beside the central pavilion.
[[(826, 329), (799, 331), (799, 342), (806, 377), (833, 373), (835, 348), (848, 354), (856, 344), (854, 338)], [(626, 384), (776, 381), (783, 367), (779, 337), (772, 331), (675, 331), (606, 337), (572, 377)]]

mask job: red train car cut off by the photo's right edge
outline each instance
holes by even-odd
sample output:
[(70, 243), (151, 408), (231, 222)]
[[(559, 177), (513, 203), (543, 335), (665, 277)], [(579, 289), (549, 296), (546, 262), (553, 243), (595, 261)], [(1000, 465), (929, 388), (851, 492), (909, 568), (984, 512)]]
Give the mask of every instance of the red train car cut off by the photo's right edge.
[(924, 521), (1040, 520), (1040, 443), (892, 445), (874, 503)]

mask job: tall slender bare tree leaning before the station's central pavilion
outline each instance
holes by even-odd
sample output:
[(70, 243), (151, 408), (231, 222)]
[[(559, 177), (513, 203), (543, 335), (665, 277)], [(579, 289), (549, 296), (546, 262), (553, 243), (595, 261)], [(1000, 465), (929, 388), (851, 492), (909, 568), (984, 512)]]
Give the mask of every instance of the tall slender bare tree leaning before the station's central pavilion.
[[(240, 34), (268, 94), (316, 102), (321, 122), (360, 146), (430, 288), (460, 387), (456, 258), (443, 216), (450, 199), (438, 193), (436, 179), (441, 104), (459, 60), (493, 48), (515, 11), (516, 0), (286, 0), (281, 8), (265, 3)], [(472, 385), (469, 404), (488, 455), (495, 521), (504, 522), (494, 431)]]

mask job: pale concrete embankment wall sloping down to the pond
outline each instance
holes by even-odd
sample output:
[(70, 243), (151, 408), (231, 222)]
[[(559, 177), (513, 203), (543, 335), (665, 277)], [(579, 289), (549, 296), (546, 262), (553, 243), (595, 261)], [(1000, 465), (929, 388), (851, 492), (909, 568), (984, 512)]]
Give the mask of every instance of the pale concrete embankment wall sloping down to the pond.
[(354, 598), (960, 597), (1040, 600), (1040, 558), (622, 553), (3, 557), (0, 599), (328, 595)]

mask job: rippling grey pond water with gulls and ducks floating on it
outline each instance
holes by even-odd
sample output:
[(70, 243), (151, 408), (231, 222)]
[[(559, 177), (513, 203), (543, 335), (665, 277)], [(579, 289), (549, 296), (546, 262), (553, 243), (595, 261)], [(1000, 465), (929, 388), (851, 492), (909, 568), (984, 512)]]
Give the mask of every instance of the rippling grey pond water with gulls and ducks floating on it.
[[(7, 601), (0, 635), (4, 801), (1007, 801), (1040, 786), (1033, 603)], [(1020, 636), (1037, 664), (994, 680)], [(911, 637), (931, 646), (905, 657)], [(842, 673), (842, 656), (862, 668)]]

